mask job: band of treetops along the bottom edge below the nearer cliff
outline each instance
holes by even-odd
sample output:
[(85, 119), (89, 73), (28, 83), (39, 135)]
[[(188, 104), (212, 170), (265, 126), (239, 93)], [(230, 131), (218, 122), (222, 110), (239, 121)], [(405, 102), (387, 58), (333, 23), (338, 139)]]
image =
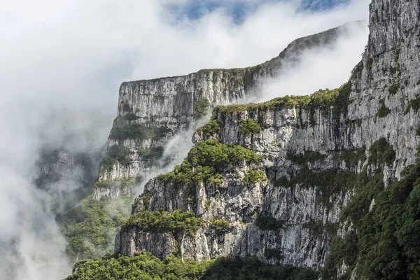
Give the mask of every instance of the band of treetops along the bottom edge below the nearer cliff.
[[(276, 255), (273, 255), (273, 258)], [(316, 280), (318, 273), (311, 269), (267, 265), (255, 257), (244, 259), (221, 257), (216, 260), (182, 261), (174, 255), (159, 260), (144, 251), (134, 257), (105, 256), (76, 264), (76, 272), (66, 280)]]

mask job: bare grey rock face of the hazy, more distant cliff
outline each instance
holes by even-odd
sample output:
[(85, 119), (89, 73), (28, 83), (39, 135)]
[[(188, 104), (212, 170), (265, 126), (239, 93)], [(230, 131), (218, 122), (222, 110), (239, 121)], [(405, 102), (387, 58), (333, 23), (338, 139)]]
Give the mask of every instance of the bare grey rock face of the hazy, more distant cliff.
[[(300, 63), (305, 50), (332, 45), (350, 28), (365, 25), (353, 22), (290, 43), (278, 57), (258, 66), (246, 69), (206, 69), (187, 76), (138, 80), (123, 83), (120, 87), (118, 117), (109, 137), (109, 145), (123, 146), (125, 157), (111, 156), (99, 172), (99, 182), (121, 178), (137, 178), (144, 181), (157, 175), (171, 159), (181, 159), (174, 151), (164, 151), (176, 135), (193, 131), (200, 125), (211, 107), (218, 104), (239, 102), (258, 93), (266, 78), (281, 76), (290, 67)], [(179, 159), (179, 160), (181, 160)], [(172, 167), (168, 165), (168, 167)], [(139, 177), (141, 176), (141, 178)], [(130, 188), (95, 188), (94, 197), (118, 197), (132, 195)]]

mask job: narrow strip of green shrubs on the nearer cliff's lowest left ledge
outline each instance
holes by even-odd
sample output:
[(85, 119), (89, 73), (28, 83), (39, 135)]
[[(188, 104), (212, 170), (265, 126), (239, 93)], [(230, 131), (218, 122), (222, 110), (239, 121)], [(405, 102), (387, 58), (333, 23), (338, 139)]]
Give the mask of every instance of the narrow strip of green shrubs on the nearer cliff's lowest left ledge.
[(166, 211), (142, 211), (132, 215), (123, 223), (123, 228), (136, 227), (139, 232), (151, 230), (167, 230), (172, 234), (184, 232), (195, 236), (195, 232), (204, 221), (195, 217), (193, 211), (176, 210), (172, 213)]

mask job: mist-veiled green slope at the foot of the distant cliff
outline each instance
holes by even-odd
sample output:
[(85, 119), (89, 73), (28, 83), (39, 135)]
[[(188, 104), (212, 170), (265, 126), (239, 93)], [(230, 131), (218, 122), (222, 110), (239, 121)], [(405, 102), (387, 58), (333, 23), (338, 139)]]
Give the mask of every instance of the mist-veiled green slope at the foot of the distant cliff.
[(86, 197), (67, 211), (61, 225), (71, 260), (112, 253), (120, 225), (130, 216), (132, 199), (94, 200)]

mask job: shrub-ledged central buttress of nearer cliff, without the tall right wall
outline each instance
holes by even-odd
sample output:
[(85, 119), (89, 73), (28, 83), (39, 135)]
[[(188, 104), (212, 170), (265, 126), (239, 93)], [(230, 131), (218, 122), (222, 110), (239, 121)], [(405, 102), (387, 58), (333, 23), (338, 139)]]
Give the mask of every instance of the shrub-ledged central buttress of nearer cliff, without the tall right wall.
[[(364, 147), (357, 151), (347, 137), (354, 127), (340, 112), (350, 88), (216, 107), (186, 160), (146, 184), (116, 252), (145, 249), (196, 260), (252, 254), (320, 269), (365, 160)], [(358, 157), (353, 165), (341, 160), (344, 151)], [(189, 233), (161, 225), (160, 218), (141, 223), (159, 211), (190, 211), (200, 221)]]

